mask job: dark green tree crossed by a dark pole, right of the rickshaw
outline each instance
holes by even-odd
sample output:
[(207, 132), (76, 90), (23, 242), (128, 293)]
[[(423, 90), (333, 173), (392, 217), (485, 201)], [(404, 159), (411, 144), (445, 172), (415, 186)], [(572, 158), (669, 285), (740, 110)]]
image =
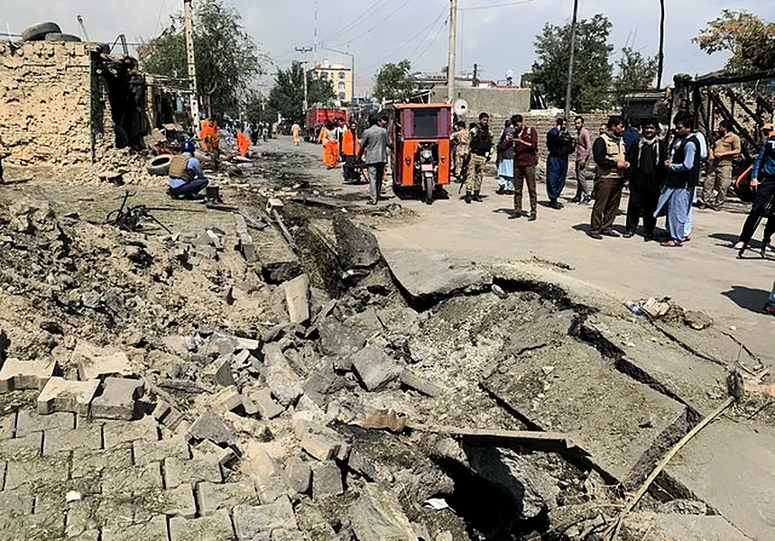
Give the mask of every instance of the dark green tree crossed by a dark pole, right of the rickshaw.
[[(533, 63), (532, 80), (549, 102), (564, 105), (567, 92), (567, 66), (570, 62), (571, 25), (546, 24), (536, 36), (538, 60)], [(611, 23), (602, 14), (577, 24), (576, 60), (573, 69), (570, 105), (586, 112), (607, 105), (613, 67), (608, 55), (614, 47), (608, 42)]]

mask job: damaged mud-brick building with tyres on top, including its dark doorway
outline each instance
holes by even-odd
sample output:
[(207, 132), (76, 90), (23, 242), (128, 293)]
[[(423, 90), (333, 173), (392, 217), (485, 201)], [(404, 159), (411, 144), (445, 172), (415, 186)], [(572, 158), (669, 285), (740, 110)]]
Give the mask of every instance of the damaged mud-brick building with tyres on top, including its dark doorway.
[(137, 61), (100, 44), (0, 41), (0, 136), (11, 165), (80, 165), (147, 133)]

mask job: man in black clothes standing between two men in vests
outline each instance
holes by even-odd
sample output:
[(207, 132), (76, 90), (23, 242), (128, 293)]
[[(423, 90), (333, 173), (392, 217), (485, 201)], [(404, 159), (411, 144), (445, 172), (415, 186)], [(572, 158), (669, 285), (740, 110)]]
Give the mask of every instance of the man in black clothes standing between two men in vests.
[(658, 136), (660, 121), (650, 118), (643, 124), (643, 137), (632, 144), (627, 161), (630, 162), (630, 180), (625, 186), (630, 188), (630, 201), (627, 204), (626, 238), (632, 237), (638, 229), (643, 216), (643, 240), (654, 238), (657, 218), (654, 212), (660, 201), (662, 183), (667, 176), (665, 160), (668, 159), (668, 143)]

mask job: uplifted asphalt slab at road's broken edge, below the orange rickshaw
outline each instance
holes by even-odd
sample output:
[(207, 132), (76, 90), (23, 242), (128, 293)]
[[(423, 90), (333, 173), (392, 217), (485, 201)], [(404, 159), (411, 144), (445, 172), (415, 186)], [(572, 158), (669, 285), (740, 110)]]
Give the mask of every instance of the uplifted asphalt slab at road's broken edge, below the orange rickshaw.
[(438, 252), (383, 249), (393, 278), (415, 301), (433, 302), (455, 293), (489, 290), (493, 276), (481, 269), (450, 261)]

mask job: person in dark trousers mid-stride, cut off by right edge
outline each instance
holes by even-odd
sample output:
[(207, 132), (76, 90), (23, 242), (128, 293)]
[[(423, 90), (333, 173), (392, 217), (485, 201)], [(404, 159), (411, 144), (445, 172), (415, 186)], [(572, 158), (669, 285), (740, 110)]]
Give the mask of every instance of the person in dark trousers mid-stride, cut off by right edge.
[(756, 233), (756, 226), (759, 225), (769, 207), (770, 214), (767, 216), (767, 225), (764, 226), (762, 254), (770, 246), (772, 234), (775, 234), (775, 203), (773, 203), (775, 201), (775, 131), (771, 131), (772, 124), (765, 124), (765, 126), (770, 130), (770, 134), (753, 162), (751, 171), (751, 189), (755, 194), (753, 205), (745, 219), (740, 239), (734, 245), (736, 250), (742, 250), (751, 242), (753, 234)]

